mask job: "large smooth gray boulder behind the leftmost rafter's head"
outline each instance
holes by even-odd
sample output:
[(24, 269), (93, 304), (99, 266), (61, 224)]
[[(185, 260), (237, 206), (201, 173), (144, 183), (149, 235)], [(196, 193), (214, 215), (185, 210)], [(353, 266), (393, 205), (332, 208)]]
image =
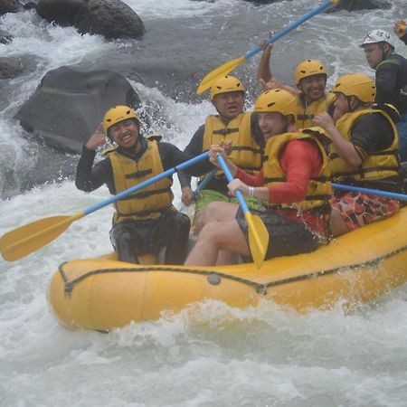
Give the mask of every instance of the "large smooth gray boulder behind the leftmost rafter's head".
[(107, 109), (140, 100), (114, 71), (63, 66), (49, 71), (15, 118), (33, 136), (63, 152), (80, 153)]

